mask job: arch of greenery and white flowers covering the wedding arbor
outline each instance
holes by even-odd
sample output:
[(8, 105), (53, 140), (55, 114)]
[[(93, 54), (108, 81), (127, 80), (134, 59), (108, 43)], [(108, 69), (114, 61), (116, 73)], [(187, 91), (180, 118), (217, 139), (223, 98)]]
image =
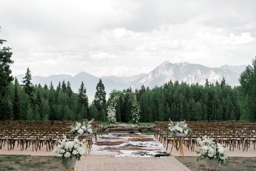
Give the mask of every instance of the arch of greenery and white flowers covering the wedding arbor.
[(110, 93), (109, 104), (107, 107), (107, 121), (110, 123), (116, 122), (116, 110), (117, 101), (119, 98), (122, 98), (125, 101), (125, 97), (128, 97), (129, 102), (131, 103), (131, 120), (129, 123), (138, 123), (141, 116), (139, 113), (141, 112), (139, 102), (134, 99), (133, 95), (130, 93), (123, 93), (120, 90), (113, 90)]

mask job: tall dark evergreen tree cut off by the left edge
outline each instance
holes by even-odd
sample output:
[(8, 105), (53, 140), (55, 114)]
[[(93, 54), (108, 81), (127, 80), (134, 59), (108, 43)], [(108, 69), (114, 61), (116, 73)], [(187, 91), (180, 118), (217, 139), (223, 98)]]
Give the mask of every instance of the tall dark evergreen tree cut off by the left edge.
[(11, 60), (11, 48), (1, 47), (5, 41), (6, 40), (0, 39), (0, 99), (5, 97), (8, 85), (13, 81), (13, 77), (11, 76), (12, 70), (10, 69), (10, 64), (13, 64), (13, 61)]

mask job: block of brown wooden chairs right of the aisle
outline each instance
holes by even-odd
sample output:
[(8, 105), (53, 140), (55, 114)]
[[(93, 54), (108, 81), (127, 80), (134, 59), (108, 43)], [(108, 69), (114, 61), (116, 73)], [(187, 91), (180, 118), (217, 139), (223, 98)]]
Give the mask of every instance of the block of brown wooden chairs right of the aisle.
[[(168, 124), (170, 122), (155, 122), (154, 136), (159, 139), (163, 146), (168, 149), (168, 144), (173, 141), (173, 137), (166, 135), (168, 131)], [(214, 142), (229, 146), (230, 150), (238, 148), (240, 145), (243, 151), (253, 144), (254, 150), (256, 145), (256, 125), (255, 123), (249, 123), (245, 121), (223, 121), (223, 122), (187, 122), (188, 127), (192, 129), (192, 134), (183, 138), (183, 144), (194, 151), (195, 146), (198, 146), (196, 142), (197, 138), (203, 136), (210, 137)], [(221, 123), (221, 124), (219, 124)], [(225, 123), (225, 124), (223, 124)], [(242, 124), (241, 124), (242, 123)], [(176, 141), (175, 147), (179, 149), (179, 141)]]

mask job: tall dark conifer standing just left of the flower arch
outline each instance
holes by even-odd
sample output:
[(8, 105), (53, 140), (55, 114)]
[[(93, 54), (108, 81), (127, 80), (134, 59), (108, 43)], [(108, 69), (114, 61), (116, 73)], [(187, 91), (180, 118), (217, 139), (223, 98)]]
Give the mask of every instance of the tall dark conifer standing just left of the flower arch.
[(106, 91), (104, 84), (102, 83), (101, 79), (99, 79), (99, 82), (96, 86), (96, 93), (94, 95), (94, 105), (96, 106), (98, 111), (101, 111), (102, 109), (106, 109)]

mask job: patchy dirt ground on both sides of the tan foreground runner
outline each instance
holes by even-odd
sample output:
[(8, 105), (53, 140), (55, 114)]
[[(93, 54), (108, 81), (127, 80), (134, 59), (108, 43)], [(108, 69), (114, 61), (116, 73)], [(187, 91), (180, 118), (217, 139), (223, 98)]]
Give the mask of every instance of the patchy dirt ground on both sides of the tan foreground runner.
[[(191, 171), (205, 171), (204, 161), (196, 163), (196, 157), (175, 157)], [(256, 158), (229, 158), (231, 166), (221, 166), (218, 171), (256, 171)], [(1, 171), (63, 171), (61, 159), (55, 156), (2, 155)]]

